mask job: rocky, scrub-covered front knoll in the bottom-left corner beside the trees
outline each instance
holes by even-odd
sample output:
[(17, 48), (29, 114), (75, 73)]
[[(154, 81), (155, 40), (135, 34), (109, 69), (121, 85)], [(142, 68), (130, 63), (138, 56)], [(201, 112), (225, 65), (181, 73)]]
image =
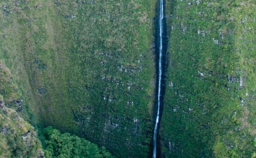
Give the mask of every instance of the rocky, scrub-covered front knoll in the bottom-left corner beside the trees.
[(1, 104), (0, 158), (43, 158), (43, 155), (34, 128), (19, 117), (17, 112)]

